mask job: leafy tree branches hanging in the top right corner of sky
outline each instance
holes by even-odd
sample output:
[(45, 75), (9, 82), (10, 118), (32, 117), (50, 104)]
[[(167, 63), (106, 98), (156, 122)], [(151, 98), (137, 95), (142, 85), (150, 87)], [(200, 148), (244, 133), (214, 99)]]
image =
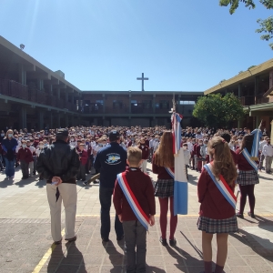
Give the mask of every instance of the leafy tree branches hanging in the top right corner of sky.
[[(259, 2), (264, 5), (267, 9), (273, 9), (273, 1), (272, 0), (259, 0)], [(238, 8), (239, 4), (244, 4), (249, 9), (255, 8), (254, 0), (219, 0), (219, 5), (229, 7), (230, 15), (233, 15)], [(258, 19), (259, 27), (256, 32), (257, 33), (265, 33), (265, 35), (261, 35), (260, 38), (262, 40), (269, 41), (273, 38), (273, 17), (269, 16), (267, 19)], [(271, 49), (273, 50), (273, 43), (269, 44)]]

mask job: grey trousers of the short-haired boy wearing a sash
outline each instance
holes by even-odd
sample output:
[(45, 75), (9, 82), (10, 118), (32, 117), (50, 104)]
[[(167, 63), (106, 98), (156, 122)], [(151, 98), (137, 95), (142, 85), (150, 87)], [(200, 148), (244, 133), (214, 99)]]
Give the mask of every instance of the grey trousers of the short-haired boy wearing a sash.
[(147, 230), (138, 220), (123, 222), (126, 241), (126, 272), (146, 272)]

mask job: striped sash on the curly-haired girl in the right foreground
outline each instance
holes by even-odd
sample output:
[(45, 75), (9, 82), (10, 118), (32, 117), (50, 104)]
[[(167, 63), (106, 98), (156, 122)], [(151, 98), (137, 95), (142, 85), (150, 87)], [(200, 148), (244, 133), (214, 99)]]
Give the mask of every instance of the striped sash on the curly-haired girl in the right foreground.
[(234, 195), (233, 191), (231, 188), (227, 185), (227, 182), (223, 176), (220, 176), (219, 179), (215, 177), (212, 173), (212, 164), (213, 163), (208, 163), (204, 165), (204, 167), (207, 170), (207, 173), (209, 177), (211, 177), (212, 181), (215, 183), (217, 186), (218, 190), (221, 192), (221, 194), (227, 199), (227, 202), (236, 209), (236, 202), (237, 202), (237, 197)]

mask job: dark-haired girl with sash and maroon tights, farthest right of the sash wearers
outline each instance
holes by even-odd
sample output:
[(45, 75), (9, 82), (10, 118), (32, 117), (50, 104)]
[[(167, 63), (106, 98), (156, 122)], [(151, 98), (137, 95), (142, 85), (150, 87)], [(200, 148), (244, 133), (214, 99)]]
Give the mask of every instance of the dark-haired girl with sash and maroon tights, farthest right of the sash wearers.
[[(257, 131), (259, 133), (260, 130)], [(259, 136), (258, 141), (260, 139)], [(252, 148), (255, 147), (255, 134), (246, 135), (243, 137), (242, 146), (237, 149), (236, 154), (238, 155), (238, 179), (237, 183), (240, 188), (240, 208), (237, 213), (237, 217), (244, 217), (244, 209), (247, 202), (249, 202), (250, 211), (248, 211), (248, 216), (254, 218), (254, 207), (255, 207), (255, 195), (254, 187), (259, 183), (258, 181), (258, 163), (251, 157)], [(255, 155), (252, 155), (255, 156)]]

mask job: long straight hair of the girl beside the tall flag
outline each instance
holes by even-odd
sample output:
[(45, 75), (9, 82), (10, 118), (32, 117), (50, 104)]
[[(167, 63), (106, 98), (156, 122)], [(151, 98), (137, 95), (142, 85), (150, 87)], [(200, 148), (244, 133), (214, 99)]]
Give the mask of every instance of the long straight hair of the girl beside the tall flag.
[(165, 131), (161, 136), (159, 147), (155, 153), (155, 164), (160, 167), (174, 167), (175, 159), (173, 154), (173, 135)]

